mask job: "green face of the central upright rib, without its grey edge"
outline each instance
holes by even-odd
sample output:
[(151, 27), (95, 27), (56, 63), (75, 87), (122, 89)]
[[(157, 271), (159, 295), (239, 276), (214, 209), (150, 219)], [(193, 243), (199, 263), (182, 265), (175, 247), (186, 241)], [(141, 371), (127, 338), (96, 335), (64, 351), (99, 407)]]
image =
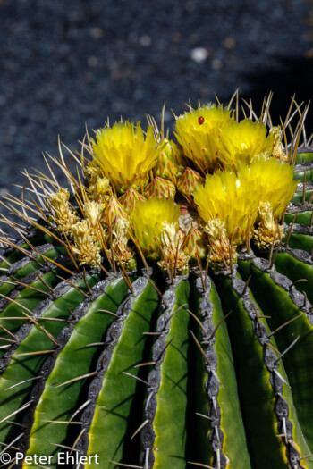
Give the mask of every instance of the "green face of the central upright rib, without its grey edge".
[[(159, 365), (160, 384), (157, 390), (157, 411), (153, 421), (154, 469), (186, 467), (186, 410), (188, 378), (188, 342), (190, 286), (182, 280), (174, 290), (175, 303), (168, 322), (165, 351)], [(183, 306), (182, 305), (186, 305)], [(178, 308), (181, 308), (178, 310)], [(178, 311), (177, 311), (178, 310)], [(162, 352), (162, 350), (159, 350)]]

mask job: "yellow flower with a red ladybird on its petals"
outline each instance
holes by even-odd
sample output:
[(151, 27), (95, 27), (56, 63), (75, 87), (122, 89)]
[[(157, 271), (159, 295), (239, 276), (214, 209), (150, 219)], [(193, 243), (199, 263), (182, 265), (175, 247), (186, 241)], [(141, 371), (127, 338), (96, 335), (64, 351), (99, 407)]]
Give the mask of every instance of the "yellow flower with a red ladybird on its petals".
[(175, 136), (190, 158), (203, 173), (218, 166), (217, 148), (220, 130), (233, 121), (233, 114), (222, 105), (202, 105), (176, 118)]

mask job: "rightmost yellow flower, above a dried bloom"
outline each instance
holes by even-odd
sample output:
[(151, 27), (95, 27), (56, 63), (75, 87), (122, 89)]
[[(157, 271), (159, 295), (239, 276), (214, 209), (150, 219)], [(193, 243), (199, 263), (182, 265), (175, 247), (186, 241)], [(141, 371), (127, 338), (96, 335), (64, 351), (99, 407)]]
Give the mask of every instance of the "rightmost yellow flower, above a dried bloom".
[(264, 155), (255, 158), (250, 166), (240, 164), (238, 177), (249, 181), (250, 197), (253, 193), (258, 204), (269, 202), (276, 216), (283, 214), (297, 188), (297, 181), (293, 180), (293, 167)]

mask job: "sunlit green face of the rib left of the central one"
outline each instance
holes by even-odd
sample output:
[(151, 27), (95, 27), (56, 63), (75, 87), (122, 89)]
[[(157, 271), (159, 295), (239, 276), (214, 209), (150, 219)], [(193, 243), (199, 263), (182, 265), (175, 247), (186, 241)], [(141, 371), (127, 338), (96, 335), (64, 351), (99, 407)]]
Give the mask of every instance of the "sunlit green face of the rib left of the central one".
[[(145, 285), (143, 291), (132, 298), (132, 306), (125, 307), (125, 310), (130, 307), (131, 311), (126, 318), (120, 320), (123, 321), (120, 324), (123, 329), (114, 345), (89, 426), (87, 456), (98, 455), (101, 469), (113, 469), (115, 465), (110, 461), (122, 462), (123, 458), (125, 458), (125, 464), (131, 464), (130, 460), (134, 457), (138, 463), (140, 456), (137, 443), (139, 440), (131, 443), (125, 439), (125, 435), (129, 430), (132, 433), (135, 432), (142, 423), (142, 408), (137, 409), (136, 420), (129, 422), (128, 417), (136, 389), (138, 386), (142, 387), (143, 384), (123, 372), (131, 373), (135, 377), (139, 375), (140, 367), (136, 365), (142, 361), (148, 339), (148, 336), (144, 334), (150, 331), (151, 317), (157, 311), (159, 303), (156, 290), (146, 279), (139, 278), (137, 287), (134, 288), (142, 289), (143, 285)], [(137, 435), (135, 438), (140, 437)], [(129, 448), (127, 454), (125, 454), (124, 445)], [(90, 461), (85, 467), (95, 469), (98, 465)]]

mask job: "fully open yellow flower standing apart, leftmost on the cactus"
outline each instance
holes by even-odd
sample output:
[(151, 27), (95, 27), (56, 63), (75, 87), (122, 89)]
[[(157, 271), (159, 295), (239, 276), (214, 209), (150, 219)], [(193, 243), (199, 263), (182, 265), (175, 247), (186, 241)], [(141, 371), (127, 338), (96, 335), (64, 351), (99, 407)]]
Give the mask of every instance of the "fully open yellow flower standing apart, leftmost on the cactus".
[(159, 153), (151, 126), (146, 138), (140, 122), (135, 127), (129, 121), (97, 130), (96, 138), (97, 143), (93, 142), (92, 146), (94, 157), (117, 192), (123, 193), (130, 186), (140, 189), (147, 185), (148, 171)]

